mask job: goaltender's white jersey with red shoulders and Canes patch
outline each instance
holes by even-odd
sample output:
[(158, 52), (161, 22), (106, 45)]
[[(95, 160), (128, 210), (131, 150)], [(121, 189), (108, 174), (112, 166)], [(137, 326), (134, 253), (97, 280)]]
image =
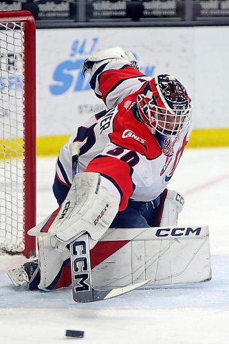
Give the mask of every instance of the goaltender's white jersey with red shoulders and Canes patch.
[[(120, 62), (118, 63), (120, 65)], [(102, 98), (111, 102), (113, 94), (112, 101), (115, 104), (114, 94), (118, 94), (120, 98), (118, 86), (123, 89), (123, 85), (122, 82), (117, 82), (118, 76), (112, 79), (111, 73), (116, 74), (120, 70), (111, 71), (107, 66), (104, 73), (109, 73), (109, 80), (115, 80), (116, 87), (112, 87), (110, 82)], [(69, 144), (73, 141), (79, 142), (79, 171), (100, 173), (103, 179), (107, 180), (106, 187), (111, 193), (116, 189), (120, 199), (120, 211), (127, 207), (129, 198), (148, 202), (155, 200), (166, 189), (190, 136), (190, 128), (174, 138), (160, 133), (153, 135), (148, 127), (140, 122), (136, 116), (138, 109), (135, 100), (147, 81), (137, 69), (129, 65), (127, 68), (138, 76), (132, 75), (128, 78), (127, 71), (126, 78), (122, 80), (125, 85), (129, 81), (129, 89), (137, 91), (129, 96), (124, 92), (126, 97), (115, 109), (102, 111), (80, 126), (77, 134), (62, 147), (56, 164), (58, 180), (70, 186), (72, 157)], [(105, 86), (100, 87), (98, 80), (101, 82), (102, 77), (97, 75), (92, 80), (97, 92), (99, 89), (105, 89)]]

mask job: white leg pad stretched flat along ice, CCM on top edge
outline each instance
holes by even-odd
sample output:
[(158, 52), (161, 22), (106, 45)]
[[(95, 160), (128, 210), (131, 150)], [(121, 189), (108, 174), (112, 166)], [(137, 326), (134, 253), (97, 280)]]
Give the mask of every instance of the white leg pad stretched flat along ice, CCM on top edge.
[[(111, 246), (116, 250), (104, 258)], [(90, 253), (95, 288), (120, 288), (144, 279), (151, 281), (142, 288), (211, 279), (208, 226), (108, 229)]]

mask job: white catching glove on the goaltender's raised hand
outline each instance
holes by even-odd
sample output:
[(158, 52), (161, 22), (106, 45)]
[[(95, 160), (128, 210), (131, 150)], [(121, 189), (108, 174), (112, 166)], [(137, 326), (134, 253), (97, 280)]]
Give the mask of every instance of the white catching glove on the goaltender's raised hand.
[(101, 65), (111, 61), (123, 61), (135, 69), (138, 69), (138, 63), (132, 52), (124, 52), (121, 47), (110, 47), (108, 49), (101, 50), (100, 52), (96, 52), (85, 60), (83, 64), (83, 76), (85, 75), (85, 72), (93, 76)]

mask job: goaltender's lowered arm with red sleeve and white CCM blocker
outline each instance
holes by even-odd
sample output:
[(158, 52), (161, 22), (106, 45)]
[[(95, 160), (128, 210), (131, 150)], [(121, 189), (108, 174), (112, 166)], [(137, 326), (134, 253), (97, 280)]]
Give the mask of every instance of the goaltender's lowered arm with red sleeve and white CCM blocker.
[[(122, 150), (122, 149), (121, 149)], [(87, 232), (91, 247), (106, 232), (118, 210), (127, 207), (133, 193), (131, 178), (138, 155), (111, 145), (76, 174), (67, 197), (49, 219), (29, 231), (30, 235), (55, 237), (54, 247), (65, 250), (67, 244)]]

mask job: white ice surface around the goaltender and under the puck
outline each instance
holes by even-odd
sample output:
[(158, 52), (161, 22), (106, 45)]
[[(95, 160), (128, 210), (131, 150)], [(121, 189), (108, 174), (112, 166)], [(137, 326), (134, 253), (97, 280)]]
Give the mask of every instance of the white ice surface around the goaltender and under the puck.
[[(72, 291), (14, 288), (6, 270), (23, 257), (0, 256), (1, 343), (228, 344), (229, 343), (229, 149), (186, 150), (170, 189), (185, 196), (179, 224), (208, 224), (212, 281), (186, 288), (135, 290), (115, 299), (76, 304)], [(39, 158), (37, 221), (56, 208), (55, 158)], [(84, 338), (65, 338), (65, 330)], [(81, 343), (81, 342), (80, 342)]]

